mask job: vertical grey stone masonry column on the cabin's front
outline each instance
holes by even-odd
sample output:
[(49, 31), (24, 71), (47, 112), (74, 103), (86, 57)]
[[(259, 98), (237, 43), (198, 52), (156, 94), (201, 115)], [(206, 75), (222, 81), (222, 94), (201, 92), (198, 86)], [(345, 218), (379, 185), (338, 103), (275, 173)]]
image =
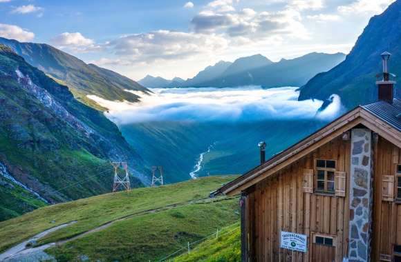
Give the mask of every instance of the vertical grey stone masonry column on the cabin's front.
[(349, 261), (369, 261), (371, 231), (371, 130), (351, 131)]

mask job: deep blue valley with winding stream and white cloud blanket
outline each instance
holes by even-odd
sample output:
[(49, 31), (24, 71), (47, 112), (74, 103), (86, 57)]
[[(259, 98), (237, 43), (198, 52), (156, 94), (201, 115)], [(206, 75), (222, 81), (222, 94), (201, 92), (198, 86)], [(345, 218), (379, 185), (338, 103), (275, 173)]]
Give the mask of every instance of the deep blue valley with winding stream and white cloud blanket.
[(299, 102), (296, 89), (159, 88), (136, 104), (93, 98), (147, 165), (176, 183), (247, 172), (259, 164), (259, 141), (270, 158), (341, 114), (338, 99), (318, 112), (323, 101)]

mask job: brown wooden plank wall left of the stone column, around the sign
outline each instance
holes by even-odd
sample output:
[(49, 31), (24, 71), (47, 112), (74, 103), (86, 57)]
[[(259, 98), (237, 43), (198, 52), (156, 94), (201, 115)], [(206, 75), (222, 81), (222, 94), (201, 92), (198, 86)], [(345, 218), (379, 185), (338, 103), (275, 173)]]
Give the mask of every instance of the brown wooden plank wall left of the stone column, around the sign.
[(349, 141), (334, 139), (255, 186), (247, 201), (250, 261), (313, 261), (310, 237), (307, 253), (290, 252), (279, 248), (281, 230), (336, 236), (336, 261), (342, 261), (347, 253), (348, 187), (346, 197), (304, 193), (303, 172), (313, 169), (316, 158), (335, 159), (337, 171), (346, 172), (348, 185), (350, 150)]

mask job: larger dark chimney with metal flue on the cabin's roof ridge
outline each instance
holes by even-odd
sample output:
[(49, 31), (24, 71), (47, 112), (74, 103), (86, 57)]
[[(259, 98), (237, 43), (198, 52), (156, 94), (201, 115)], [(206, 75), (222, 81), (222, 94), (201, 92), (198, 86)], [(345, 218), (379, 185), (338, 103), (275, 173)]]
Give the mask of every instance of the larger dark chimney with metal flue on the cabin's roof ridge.
[[(383, 52), (381, 54), (383, 60), (383, 79), (382, 81), (376, 81), (379, 92), (379, 101), (385, 101), (387, 103), (393, 103), (395, 84), (395, 81), (390, 81), (390, 76), (394, 76), (393, 74), (389, 73), (388, 62), (390, 56), (391, 54), (389, 52)], [(378, 74), (377, 76), (380, 75), (381, 74)]]

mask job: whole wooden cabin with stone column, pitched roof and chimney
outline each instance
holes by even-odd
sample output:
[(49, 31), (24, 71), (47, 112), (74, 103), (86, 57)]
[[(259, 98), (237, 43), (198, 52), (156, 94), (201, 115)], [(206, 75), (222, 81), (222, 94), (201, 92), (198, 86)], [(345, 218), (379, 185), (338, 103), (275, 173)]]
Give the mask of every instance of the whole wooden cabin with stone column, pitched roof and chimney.
[(401, 261), (401, 100), (384, 72), (360, 105), (223, 185), (242, 261)]

